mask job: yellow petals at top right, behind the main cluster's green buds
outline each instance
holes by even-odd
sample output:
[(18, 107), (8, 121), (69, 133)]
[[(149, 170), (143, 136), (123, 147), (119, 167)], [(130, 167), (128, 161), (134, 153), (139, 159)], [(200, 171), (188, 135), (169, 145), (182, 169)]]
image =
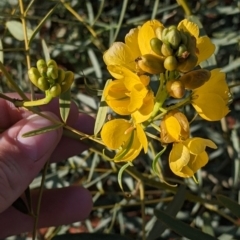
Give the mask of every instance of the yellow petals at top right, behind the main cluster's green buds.
[(196, 38), (197, 44), (197, 57), (198, 62), (203, 62), (207, 60), (215, 51), (215, 45), (211, 42), (210, 38), (207, 36), (199, 37), (199, 27), (193, 23), (184, 19), (178, 24), (178, 30), (190, 33), (191, 36)]

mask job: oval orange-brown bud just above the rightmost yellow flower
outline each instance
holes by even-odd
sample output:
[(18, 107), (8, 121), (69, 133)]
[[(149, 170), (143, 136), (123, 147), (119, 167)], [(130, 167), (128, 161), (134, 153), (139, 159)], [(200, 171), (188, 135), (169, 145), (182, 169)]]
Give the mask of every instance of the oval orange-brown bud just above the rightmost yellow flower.
[(188, 72), (180, 77), (186, 89), (195, 89), (201, 87), (211, 77), (211, 72), (206, 69), (198, 69)]

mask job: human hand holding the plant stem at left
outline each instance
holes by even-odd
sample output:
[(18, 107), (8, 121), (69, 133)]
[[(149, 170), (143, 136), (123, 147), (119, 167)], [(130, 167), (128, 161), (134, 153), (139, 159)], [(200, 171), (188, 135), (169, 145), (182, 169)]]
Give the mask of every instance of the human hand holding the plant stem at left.
[[(17, 98), (16, 94), (8, 94)], [(46, 161), (58, 162), (81, 153), (88, 146), (62, 136), (57, 129), (33, 137), (22, 134), (51, 125), (52, 123), (23, 108), (0, 99), (0, 239), (9, 235), (31, 231), (34, 219), (12, 207), (31, 181), (43, 168)], [(57, 100), (42, 106), (44, 114), (60, 119)], [(91, 134), (94, 120), (79, 114), (72, 104), (67, 121), (71, 127)], [(38, 191), (32, 192), (33, 207), (36, 207)], [(38, 227), (57, 226), (85, 219), (92, 208), (90, 193), (80, 186), (45, 190), (39, 215)]]

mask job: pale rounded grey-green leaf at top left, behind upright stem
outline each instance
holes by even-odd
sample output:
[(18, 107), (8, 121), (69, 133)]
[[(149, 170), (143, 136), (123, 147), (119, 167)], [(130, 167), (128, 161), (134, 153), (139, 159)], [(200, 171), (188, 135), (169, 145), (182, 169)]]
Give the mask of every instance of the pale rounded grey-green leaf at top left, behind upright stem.
[[(24, 40), (24, 32), (22, 23), (15, 20), (10, 20), (6, 22), (6, 27), (8, 31), (19, 41)], [(33, 31), (27, 28), (27, 38), (30, 39), (33, 34)]]

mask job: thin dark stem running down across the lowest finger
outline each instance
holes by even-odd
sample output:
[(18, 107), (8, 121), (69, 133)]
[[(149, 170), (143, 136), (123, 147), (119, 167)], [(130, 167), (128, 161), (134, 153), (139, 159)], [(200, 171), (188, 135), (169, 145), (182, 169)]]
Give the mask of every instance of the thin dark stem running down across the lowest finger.
[(37, 227), (38, 227), (38, 220), (39, 220), (39, 213), (40, 213), (40, 208), (41, 208), (41, 202), (42, 202), (42, 194), (43, 194), (43, 188), (44, 188), (44, 182), (47, 174), (47, 169), (48, 169), (49, 161), (47, 161), (44, 165), (43, 168), (43, 174), (42, 174), (42, 180), (41, 180), (41, 186), (39, 190), (39, 197), (38, 197), (38, 202), (37, 202), (37, 210), (35, 213), (35, 221), (34, 221), (34, 226), (33, 226), (33, 237), (32, 239), (35, 240), (36, 234), (37, 234)]

